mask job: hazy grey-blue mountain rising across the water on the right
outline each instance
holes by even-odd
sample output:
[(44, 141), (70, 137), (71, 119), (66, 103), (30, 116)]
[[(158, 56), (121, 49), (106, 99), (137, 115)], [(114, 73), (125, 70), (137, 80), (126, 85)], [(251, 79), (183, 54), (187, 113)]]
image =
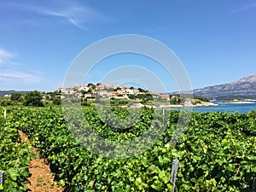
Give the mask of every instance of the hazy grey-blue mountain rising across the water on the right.
[(196, 96), (205, 96), (209, 99), (226, 96), (256, 97), (256, 75), (247, 76), (230, 84), (207, 86), (193, 90)]

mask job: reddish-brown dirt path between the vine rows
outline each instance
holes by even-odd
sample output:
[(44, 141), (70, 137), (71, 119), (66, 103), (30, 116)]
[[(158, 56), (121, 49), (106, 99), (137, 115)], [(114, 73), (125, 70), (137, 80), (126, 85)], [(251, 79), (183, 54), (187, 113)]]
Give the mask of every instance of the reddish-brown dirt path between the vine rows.
[[(21, 142), (29, 143), (26, 135), (19, 131)], [(40, 159), (36, 148), (32, 148), (32, 151), (36, 154), (36, 159), (30, 161), (28, 166), (29, 172), (32, 176), (28, 178), (27, 191), (32, 192), (56, 192), (63, 191), (63, 188), (54, 181), (54, 177), (50, 172), (49, 166), (44, 163), (44, 160)]]

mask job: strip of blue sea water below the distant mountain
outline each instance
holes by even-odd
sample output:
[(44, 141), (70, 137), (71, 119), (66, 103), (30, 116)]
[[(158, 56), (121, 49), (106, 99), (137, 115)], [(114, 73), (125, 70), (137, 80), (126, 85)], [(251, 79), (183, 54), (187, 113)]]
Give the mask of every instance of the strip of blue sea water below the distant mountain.
[[(172, 109), (174, 109), (174, 108), (172, 108)], [(176, 110), (182, 110), (180, 108), (175, 108), (175, 109)], [(193, 111), (195, 111), (195, 112), (248, 113), (251, 110), (256, 111), (256, 103), (219, 104), (218, 106), (195, 107), (195, 108), (193, 108)]]

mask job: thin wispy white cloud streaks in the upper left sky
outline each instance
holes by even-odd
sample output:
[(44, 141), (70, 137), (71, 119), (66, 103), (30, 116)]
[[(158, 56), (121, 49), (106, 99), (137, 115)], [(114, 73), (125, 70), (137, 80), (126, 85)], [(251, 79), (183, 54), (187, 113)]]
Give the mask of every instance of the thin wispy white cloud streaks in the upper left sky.
[(88, 31), (87, 26), (90, 22), (109, 19), (108, 16), (76, 1), (52, 1), (51, 5), (48, 6), (24, 3), (6, 3), (5, 6), (37, 15), (58, 17), (83, 31)]

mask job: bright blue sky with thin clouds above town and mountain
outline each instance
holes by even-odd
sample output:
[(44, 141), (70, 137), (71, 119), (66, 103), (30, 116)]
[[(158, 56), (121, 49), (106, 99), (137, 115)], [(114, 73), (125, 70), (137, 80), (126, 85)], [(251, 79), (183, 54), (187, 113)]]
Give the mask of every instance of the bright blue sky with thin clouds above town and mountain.
[[(229, 83), (256, 74), (255, 19), (256, 1), (247, 0), (0, 0), (0, 90), (56, 90), (76, 55), (120, 34), (166, 44), (193, 89)], [(172, 78), (148, 59), (119, 55), (106, 63), (87, 80), (97, 83), (114, 67), (138, 65), (175, 90)]]

